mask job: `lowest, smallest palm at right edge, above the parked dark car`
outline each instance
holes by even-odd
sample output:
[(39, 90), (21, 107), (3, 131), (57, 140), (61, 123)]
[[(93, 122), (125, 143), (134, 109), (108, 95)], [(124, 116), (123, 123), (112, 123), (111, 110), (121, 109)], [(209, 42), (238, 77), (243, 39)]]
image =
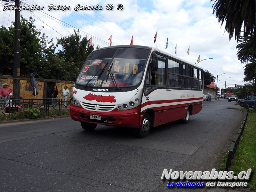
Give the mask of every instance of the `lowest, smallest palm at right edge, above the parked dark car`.
[[(255, 84), (256, 60), (250, 60), (250, 62), (244, 66), (244, 75), (245, 75), (245, 78), (244, 78), (245, 81), (253, 81), (254, 82), (254, 95), (256, 95), (256, 84)], [(254, 103), (253, 110), (256, 111), (256, 101)]]

